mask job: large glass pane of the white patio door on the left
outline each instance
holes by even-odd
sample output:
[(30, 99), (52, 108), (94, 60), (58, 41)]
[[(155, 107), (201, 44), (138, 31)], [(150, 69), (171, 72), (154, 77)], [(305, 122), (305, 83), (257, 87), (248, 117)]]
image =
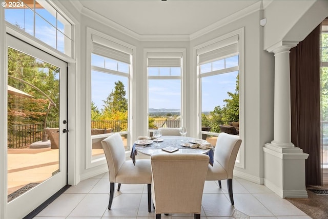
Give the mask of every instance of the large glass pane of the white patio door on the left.
[(59, 68), (8, 48), (8, 202), (59, 172)]

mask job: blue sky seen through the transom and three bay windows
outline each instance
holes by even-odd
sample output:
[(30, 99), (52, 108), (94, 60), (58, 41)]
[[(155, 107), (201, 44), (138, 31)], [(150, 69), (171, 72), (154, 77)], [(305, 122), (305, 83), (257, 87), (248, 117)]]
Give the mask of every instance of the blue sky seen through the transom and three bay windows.
[[(56, 26), (56, 18), (44, 9), (37, 9), (37, 13), (43, 16), (47, 21)], [(60, 31), (56, 31), (56, 28), (47, 23), (40, 16), (36, 15), (35, 19), (35, 37), (41, 39), (48, 45), (57, 48), (59, 51), (64, 52), (64, 37), (60, 31), (64, 31), (64, 25), (57, 21), (57, 28)], [(24, 28), (26, 32), (33, 35), (33, 11), (30, 9), (8, 9), (5, 11), (6, 21), (12, 24), (18, 24), (21, 28)], [(58, 34), (56, 41), (56, 32)], [(94, 64), (101, 67), (104, 62), (99, 60), (99, 58), (93, 57)], [(113, 63), (107, 62), (107, 67)], [(226, 60), (226, 67), (238, 65), (237, 58), (230, 58)], [(203, 71), (207, 71), (208, 66), (204, 65)], [(115, 67), (114, 67), (115, 68)], [(222, 62), (213, 63), (213, 68), (222, 68)], [(224, 67), (223, 67), (224, 68)], [(128, 68), (125, 65), (118, 66), (118, 70), (128, 73)], [(173, 72), (176, 75), (176, 69)], [(212, 111), (216, 106), (223, 106), (223, 99), (229, 98), (227, 92), (235, 92), (236, 86), (236, 76), (238, 72), (230, 72), (220, 75), (214, 75), (209, 77), (201, 78), (201, 93), (202, 93), (202, 111)], [(151, 74), (150, 74), (151, 75)], [(120, 75), (112, 75), (107, 73), (101, 73), (92, 71), (92, 101), (98, 107), (98, 109), (103, 108), (103, 100), (105, 100), (108, 95), (114, 90), (114, 82), (121, 81), (126, 88), (128, 88), (127, 77)], [(166, 109), (180, 109), (181, 108), (181, 83), (178, 79), (150, 79), (148, 90), (149, 108), (166, 108)], [(195, 88), (196, 89), (196, 88)], [(126, 92), (126, 98), (128, 98), (128, 91)]]

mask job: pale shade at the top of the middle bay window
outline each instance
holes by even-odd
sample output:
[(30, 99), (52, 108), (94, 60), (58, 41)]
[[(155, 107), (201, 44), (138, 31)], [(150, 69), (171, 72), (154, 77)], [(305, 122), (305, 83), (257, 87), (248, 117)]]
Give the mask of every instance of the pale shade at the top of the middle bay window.
[(181, 67), (181, 52), (148, 52), (148, 67)]

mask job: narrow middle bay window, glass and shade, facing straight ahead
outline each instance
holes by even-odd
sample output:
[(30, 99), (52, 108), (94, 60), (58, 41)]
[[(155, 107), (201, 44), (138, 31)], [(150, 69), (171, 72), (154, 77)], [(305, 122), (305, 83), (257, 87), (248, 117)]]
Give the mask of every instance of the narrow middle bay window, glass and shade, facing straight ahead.
[(182, 52), (147, 52), (149, 129), (180, 127)]

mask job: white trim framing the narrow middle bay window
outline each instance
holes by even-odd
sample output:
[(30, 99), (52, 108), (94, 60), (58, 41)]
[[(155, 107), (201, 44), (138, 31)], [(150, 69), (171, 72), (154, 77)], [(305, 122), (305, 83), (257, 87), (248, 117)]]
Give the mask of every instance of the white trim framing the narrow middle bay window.
[[(180, 117), (180, 124), (181, 126), (186, 126), (186, 113), (187, 113), (187, 101), (186, 101), (186, 93), (187, 93), (187, 76), (186, 76), (186, 63), (187, 63), (187, 56), (186, 56), (186, 49), (185, 48), (146, 48), (144, 49), (144, 73), (146, 75), (146, 96), (147, 96), (147, 103), (146, 103), (146, 113), (144, 114), (144, 121), (147, 121), (144, 127), (144, 133), (148, 133), (148, 80), (149, 79), (181, 79), (181, 117)], [(147, 53), (149, 52), (181, 52), (182, 53), (182, 64), (181, 64), (181, 76), (148, 76), (147, 74)], [(188, 128), (188, 127), (187, 127)]]

